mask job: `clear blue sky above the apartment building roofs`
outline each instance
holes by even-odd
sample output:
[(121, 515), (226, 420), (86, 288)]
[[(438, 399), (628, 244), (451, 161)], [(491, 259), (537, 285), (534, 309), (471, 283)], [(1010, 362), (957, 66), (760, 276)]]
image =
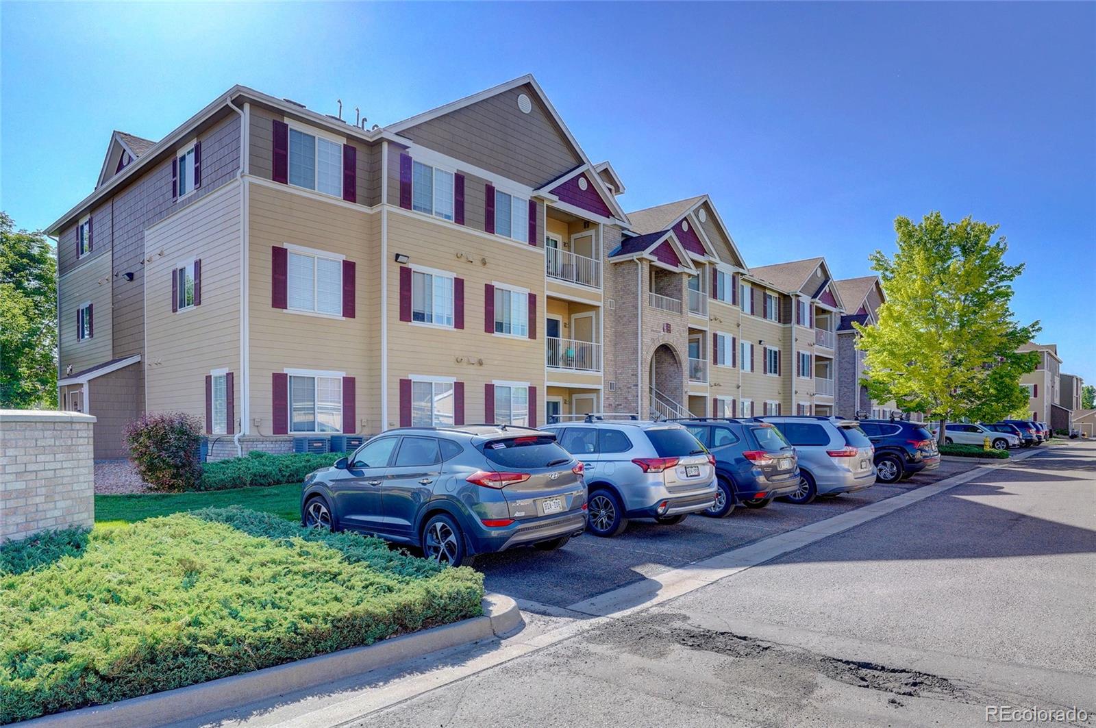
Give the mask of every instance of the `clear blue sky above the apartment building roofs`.
[(1096, 4), (0, 5), (0, 196), (52, 223), (111, 130), (233, 83), (381, 125), (533, 72), (626, 209), (709, 193), (747, 264), (893, 249), (897, 215), (1001, 225), (1014, 308), (1096, 383)]

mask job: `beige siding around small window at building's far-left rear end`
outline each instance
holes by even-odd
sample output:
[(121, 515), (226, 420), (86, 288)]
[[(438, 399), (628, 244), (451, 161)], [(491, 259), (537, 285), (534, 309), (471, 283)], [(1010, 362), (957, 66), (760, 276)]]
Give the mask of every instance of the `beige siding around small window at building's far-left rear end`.
[[(111, 257), (98, 255), (60, 280), (60, 372), (69, 366), (80, 372), (107, 362), (113, 356), (113, 316), (111, 314)], [(77, 310), (88, 302), (93, 304), (94, 335), (77, 340)]]

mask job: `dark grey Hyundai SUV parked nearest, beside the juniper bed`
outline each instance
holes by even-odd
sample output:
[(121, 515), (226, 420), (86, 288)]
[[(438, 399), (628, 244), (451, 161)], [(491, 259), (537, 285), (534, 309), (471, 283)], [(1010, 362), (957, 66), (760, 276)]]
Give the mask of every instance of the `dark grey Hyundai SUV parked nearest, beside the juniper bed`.
[(516, 546), (550, 550), (586, 525), (582, 463), (549, 432), (399, 428), (305, 479), (305, 525), (421, 547), (442, 564)]

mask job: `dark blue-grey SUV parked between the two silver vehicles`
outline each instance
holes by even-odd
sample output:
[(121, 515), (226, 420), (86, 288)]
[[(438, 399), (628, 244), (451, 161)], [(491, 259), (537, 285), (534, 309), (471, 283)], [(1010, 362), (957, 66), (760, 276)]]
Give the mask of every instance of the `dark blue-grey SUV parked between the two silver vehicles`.
[(716, 458), (716, 502), (705, 515), (721, 519), (735, 504), (763, 508), (799, 488), (799, 458), (768, 422), (726, 418), (674, 420), (685, 425)]

